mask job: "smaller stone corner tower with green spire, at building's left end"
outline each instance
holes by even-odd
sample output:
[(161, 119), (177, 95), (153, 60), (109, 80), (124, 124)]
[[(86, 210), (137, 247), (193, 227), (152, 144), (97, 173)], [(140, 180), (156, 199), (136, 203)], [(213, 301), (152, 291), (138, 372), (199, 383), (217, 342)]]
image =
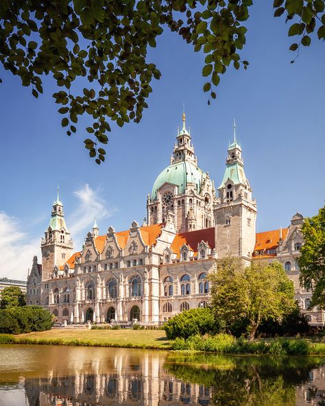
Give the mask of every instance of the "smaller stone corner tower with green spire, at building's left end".
[(65, 224), (63, 204), (58, 195), (53, 202), (51, 219), (40, 248), (42, 250), (42, 279), (47, 280), (55, 266), (61, 267), (73, 252), (73, 242)]

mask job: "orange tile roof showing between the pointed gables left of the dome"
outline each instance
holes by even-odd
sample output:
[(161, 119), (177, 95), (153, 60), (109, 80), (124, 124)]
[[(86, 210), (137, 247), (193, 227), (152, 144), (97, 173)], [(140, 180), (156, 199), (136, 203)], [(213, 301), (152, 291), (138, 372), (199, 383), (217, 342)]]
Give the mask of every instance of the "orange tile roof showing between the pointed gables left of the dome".
[[(156, 244), (156, 239), (161, 234), (163, 224), (152, 224), (152, 226), (140, 227), (141, 237), (146, 246)], [(119, 248), (123, 250), (128, 243), (130, 230), (119, 231), (115, 233)], [(98, 252), (103, 252), (106, 241), (106, 235), (99, 235), (95, 238), (95, 246)]]

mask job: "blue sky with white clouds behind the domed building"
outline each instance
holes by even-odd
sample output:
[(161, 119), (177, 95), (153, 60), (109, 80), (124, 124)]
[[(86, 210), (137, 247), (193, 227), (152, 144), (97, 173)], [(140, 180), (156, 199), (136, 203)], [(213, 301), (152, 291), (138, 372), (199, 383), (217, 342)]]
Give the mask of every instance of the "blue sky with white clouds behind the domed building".
[(185, 104), (199, 166), (218, 184), (236, 117), (245, 172), (258, 204), (257, 230), (289, 225), (296, 211), (314, 215), (324, 204), (325, 58), (316, 38), (290, 64), (293, 42), (284, 19), (274, 19), (272, 2), (252, 7), (247, 71), (230, 68), (221, 77), (211, 106), (202, 91), (204, 56), (175, 33), (165, 32), (149, 51), (163, 76), (152, 84), (149, 108), (139, 124), (112, 126), (104, 165), (88, 158), (87, 136), (68, 138), (60, 126), (46, 78), (45, 94), (34, 99), (18, 77), (1, 69), (0, 276), (24, 278), (60, 184), (67, 225), (80, 249), (97, 217), (99, 232), (142, 222), (156, 176), (169, 164)]

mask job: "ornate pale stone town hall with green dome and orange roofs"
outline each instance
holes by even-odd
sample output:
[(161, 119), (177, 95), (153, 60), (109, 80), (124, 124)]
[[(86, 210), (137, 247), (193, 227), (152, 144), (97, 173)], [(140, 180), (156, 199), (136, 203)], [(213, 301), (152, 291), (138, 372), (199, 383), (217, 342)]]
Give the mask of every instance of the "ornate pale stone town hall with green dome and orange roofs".
[(57, 322), (159, 324), (206, 307), (206, 276), (216, 270), (217, 258), (232, 255), (245, 263), (283, 263), (310, 322), (324, 325), (324, 312), (306, 310), (311, 295), (299, 284), (302, 215), (294, 215), (288, 228), (256, 234), (256, 213), (235, 134), (216, 188), (197, 166), (183, 115), (170, 165), (147, 196), (147, 223), (132, 222), (125, 231), (110, 226), (102, 235), (95, 222), (82, 250), (74, 252), (58, 196), (41, 241), (42, 265), (34, 256), (28, 276), (27, 303), (49, 309)]

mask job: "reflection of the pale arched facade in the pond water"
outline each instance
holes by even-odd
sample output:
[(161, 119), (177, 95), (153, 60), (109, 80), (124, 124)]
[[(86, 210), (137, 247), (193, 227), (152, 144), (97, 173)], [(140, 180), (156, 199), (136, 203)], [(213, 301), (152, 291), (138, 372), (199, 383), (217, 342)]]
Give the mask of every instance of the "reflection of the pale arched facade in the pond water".
[[(29, 406), (212, 404), (210, 388), (168, 374), (165, 359), (158, 353), (143, 353), (140, 359), (117, 353), (112, 361), (110, 366), (100, 362), (85, 368), (80, 365), (74, 375), (51, 370), (45, 378), (26, 379)], [(110, 373), (106, 373), (108, 369)]]

